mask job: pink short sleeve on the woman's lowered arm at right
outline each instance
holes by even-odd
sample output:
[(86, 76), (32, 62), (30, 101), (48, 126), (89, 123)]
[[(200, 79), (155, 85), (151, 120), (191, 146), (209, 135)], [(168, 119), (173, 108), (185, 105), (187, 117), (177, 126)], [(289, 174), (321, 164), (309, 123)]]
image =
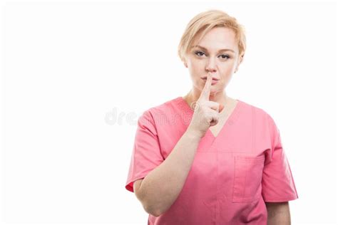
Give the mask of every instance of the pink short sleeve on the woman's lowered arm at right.
[(280, 130), (270, 115), (267, 115), (271, 151), (263, 169), (262, 197), (265, 202), (287, 202), (298, 199), (290, 164), (282, 146)]

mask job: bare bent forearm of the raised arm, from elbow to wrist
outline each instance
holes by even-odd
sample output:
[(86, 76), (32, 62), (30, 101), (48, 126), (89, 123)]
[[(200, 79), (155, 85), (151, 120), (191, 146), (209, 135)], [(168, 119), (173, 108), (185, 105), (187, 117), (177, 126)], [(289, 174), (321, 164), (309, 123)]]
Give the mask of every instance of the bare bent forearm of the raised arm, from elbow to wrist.
[(175, 202), (193, 164), (200, 138), (188, 129), (170, 155), (143, 179), (140, 199), (148, 213), (163, 214)]

